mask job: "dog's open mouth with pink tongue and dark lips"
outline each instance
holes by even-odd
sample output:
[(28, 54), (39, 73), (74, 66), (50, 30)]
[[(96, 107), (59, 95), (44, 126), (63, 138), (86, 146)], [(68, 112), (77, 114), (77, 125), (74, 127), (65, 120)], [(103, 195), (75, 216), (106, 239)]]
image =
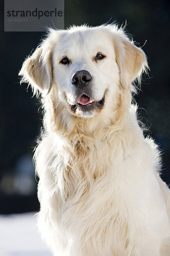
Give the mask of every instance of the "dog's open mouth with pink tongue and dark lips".
[(75, 105), (71, 105), (71, 110), (76, 111), (77, 108), (81, 109), (82, 111), (90, 111), (93, 108), (102, 108), (105, 104), (105, 94), (100, 101), (95, 101), (91, 97), (86, 94), (82, 94)]

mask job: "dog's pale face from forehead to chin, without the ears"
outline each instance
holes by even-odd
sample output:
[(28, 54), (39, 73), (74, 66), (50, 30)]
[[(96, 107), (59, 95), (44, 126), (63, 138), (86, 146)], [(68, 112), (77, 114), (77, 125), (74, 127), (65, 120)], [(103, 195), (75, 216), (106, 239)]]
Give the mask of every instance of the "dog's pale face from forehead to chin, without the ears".
[(108, 92), (119, 84), (113, 42), (107, 34), (86, 29), (64, 34), (53, 52), (54, 80), (70, 113), (92, 117), (105, 107)]

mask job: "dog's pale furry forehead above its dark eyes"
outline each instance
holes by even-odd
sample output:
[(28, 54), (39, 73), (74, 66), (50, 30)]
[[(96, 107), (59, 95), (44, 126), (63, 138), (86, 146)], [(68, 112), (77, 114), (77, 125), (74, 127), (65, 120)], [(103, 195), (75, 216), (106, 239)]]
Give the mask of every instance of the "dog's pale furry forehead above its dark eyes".
[(95, 55), (97, 52), (113, 51), (113, 40), (103, 30), (84, 29), (65, 32), (57, 42), (57, 49), (61, 55), (81, 55), (82, 53)]

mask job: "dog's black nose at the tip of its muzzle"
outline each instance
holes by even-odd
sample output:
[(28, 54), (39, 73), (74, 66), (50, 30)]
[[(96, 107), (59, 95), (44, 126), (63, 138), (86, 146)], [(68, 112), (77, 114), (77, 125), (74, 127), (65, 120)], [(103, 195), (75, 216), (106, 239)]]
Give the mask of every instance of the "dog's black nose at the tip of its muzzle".
[(74, 85), (85, 86), (91, 80), (91, 74), (87, 70), (79, 70), (73, 74), (71, 81)]

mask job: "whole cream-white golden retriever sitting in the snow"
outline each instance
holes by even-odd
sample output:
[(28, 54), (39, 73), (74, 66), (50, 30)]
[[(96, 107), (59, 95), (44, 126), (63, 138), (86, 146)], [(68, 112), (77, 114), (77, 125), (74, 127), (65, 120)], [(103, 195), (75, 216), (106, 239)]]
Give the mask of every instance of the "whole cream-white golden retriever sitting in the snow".
[(170, 256), (170, 190), (131, 104), (146, 68), (115, 25), (50, 29), (23, 63), (44, 107), (38, 225), (54, 256)]

